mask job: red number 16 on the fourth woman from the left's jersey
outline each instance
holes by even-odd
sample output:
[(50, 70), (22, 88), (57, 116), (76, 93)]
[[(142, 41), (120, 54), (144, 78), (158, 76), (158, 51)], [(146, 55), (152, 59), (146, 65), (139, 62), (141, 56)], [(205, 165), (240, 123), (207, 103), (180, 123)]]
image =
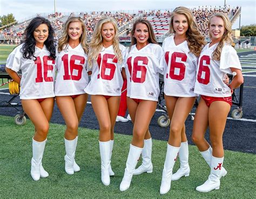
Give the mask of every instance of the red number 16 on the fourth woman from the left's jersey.
[[(137, 56), (133, 60), (133, 67), (131, 63), (132, 57), (127, 59), (128, 70), (130, 72), (130, 76), (132, 77), (130, 80), (136, 83), (143, 83), (146, 80), (146, 72), (147, 68), (145, 65), (149, 63), (149, 59), (146, 56)], [(142, 62), (143, 65), (139, 65), (139, 61)], [(140, 77), (137, 77), (138, 72), (140, 72)]]

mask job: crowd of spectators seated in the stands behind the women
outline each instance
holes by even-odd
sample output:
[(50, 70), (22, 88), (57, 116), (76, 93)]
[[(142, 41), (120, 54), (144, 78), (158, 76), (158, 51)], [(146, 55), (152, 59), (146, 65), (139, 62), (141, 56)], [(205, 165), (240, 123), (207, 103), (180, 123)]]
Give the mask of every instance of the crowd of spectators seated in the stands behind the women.
[[(226, 6), (199, 6), (199, 8), (193, 8), (191, 9), (193, 15), (195, 16), (198, 26), (199, 26), (199, 31), (201, 32), (202, 35), (207, 35), (208, 34), (208, 29), (207, 29), (207, 20), (208, 18), (215, 12), (224, 12), (227, 13), (227, 15), (234, 16), (237, 10), (239, 9), (239, 6), (231, 9), (230, 5)], [(143, 11), (139, 10), (138, 14), (142, 14), (144, 18), (147, 17), (167, 17), (169, 18), (172, 14), (170, 10), (151, 10), (151, 11)], [(71, 12), (70, 16), (75, 16), (75, 13)], [(124, 12), (96, 12), (93, 11), (91, 13), (87, 12), (80, 12), (80, 16), (83, 18), (85, 25), (87, 27), (87, 34), (90, 36), (93, 33), (93, 29), (95, 28), (95, 25), (97, 21), (102, 17), (102, 16), (109, 16), (114, 19), (116, 19), (117, 24), (119, 27), (129, 24), (129, 22), (136, 16), (136, 14), (130, 14), (130, 13), (124, 13)], [(63, 21), (62, 18), (64, 15), (62, 12), (55, 12), (50, 15), (48, 15), (49, 20), (52, 23), (52, 26), (54, 27), (55, 31), (62, 30), (63, 26)], [(14, 43), (15, 39), (19, 39), (23, 37), (25, 27), (28, 23), (25, 21), (21, 24), (18, 25), (13, 25), (9, 28), (6, 28), (2, 30), (2, 34), (4, 35), (4, 38), (9, 41), (9, 43)], [(1, 34), (1, 33), (0, 33)]]

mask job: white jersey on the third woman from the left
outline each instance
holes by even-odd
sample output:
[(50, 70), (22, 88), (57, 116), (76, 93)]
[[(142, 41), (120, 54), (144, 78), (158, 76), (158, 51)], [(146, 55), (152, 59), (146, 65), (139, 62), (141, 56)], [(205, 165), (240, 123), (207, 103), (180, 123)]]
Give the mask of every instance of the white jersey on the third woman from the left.
[(119, 63), (114, 55), (113, 45), (102, 48), (97, 62), (93, 62), (91, 81), (84, 89), (90, 95), (120, 96), (123, 86), (122, 69), (125, 67), (127, 49), (119, 44), (122, 51), (123, 63)]

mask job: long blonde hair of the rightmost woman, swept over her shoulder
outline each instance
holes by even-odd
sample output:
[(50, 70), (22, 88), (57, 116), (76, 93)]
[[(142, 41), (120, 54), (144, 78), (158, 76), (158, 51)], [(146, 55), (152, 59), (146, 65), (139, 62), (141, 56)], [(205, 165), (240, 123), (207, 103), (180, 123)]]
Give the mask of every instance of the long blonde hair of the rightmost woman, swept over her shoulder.
[[(216, 49), (212, 53), (212, 59), (213, 60), (220, 60), (220, 54), (221, 54), (223, 46), (225, 44), (231, 45), (233, 43), (232, 25), (231, 25), (230, 19), (227, 17), (227, 15), (225, 13), (216, 12), (208, 20), (208, 29), (210, 29), (211, 19), (213, 17), (219, 17), (219, 18), (223, 19), (224, 27), (225, 27), (224, 34), (223, 34), (218, 46), (216, 47)], [(210, 39), (212, 38), (210, 32), (209, 32), (209, 37), (210, 37)]]

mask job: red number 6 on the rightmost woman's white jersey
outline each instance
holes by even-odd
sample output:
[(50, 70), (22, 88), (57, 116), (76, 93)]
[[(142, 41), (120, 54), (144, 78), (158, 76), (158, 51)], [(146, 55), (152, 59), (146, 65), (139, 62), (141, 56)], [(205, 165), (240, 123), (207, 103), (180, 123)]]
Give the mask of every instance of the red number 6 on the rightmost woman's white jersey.
[[(210, 56), (208, 55), (203, 55), (200, 59), (197, 81), (201, 84), (208, 84), (210, 82), (210, 68), (204, 65), (204, 61), (207, 65), (210, 65), (210, 60)], [(203, 72), (204, 78), (202, 78)]]

